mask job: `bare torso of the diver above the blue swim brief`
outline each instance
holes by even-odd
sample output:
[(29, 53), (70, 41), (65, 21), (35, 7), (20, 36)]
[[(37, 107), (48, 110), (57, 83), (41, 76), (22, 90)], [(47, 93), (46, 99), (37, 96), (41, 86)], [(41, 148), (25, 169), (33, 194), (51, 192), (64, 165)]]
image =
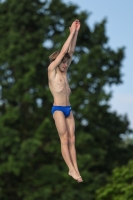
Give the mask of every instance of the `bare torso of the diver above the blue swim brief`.
[(54, 72), (48, 73), (49, 89), (54, 98), (54, 105), (69, 106), (69, 96), (71, 93), (67, 73), (61, 72), (58, 68)]

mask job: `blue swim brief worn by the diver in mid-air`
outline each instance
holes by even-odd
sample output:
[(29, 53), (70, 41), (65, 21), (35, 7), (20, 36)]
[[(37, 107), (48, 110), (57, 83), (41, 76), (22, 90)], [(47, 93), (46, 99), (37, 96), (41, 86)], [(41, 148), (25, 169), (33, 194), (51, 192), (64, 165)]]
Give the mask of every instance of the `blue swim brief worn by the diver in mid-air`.
[(70, 115), (71, 110), (71, 106), (53, 106), (52, 114), (54, 114), (55, 111), (62, 111), (65, 117), (68, 117)]

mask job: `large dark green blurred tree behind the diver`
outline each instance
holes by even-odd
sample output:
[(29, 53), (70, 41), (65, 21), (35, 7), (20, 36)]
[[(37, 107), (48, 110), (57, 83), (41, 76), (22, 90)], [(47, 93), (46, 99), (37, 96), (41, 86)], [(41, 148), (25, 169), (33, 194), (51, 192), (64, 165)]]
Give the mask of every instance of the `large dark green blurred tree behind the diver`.
[[(104, 89), (122, 83), (124, 48), (108, 46), (106, 20), (91, 30), (87, 17), (60, 0), (0, 3), (2, 200), (93, 200), (112, 169), (133, 156), (132, 145), (125, 146), (120, 137), (131, 132), (129, 122), (110, 111), (111, 93)], [(62, 47), (76, 18), (82, 28), (68, 75), (84, 178), (79, 186), (67, 175), (60, 155), (47, 83), (48, 56)]]

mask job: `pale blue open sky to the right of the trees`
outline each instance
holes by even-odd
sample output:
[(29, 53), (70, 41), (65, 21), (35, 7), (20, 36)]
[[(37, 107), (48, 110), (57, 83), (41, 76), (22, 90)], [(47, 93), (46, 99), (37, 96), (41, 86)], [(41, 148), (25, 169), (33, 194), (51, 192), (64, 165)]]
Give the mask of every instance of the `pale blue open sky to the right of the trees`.
[[(133, 129), (133, 1), (132, 0), (63, 0), (76, 4), (80, 11), (91, 13), (87, 23), (93, 28), (95, 23), (107, 19), (106, 35), (108, 45), (113, 49), (125, 47), (122, 62), (123, 84), (114, 85), (110, 100), (111, 110), (126, 114)], [(82, 24), (81, 24), (82, 28)]]

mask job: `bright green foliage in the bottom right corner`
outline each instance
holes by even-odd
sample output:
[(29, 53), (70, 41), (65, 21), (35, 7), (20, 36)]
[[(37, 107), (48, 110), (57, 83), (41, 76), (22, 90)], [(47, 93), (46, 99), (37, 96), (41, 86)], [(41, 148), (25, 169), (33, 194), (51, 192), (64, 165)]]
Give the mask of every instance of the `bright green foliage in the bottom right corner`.
[(97, 191), (96, 200), (133, 199), (133, 160), (113, 170), (108, 184)]

